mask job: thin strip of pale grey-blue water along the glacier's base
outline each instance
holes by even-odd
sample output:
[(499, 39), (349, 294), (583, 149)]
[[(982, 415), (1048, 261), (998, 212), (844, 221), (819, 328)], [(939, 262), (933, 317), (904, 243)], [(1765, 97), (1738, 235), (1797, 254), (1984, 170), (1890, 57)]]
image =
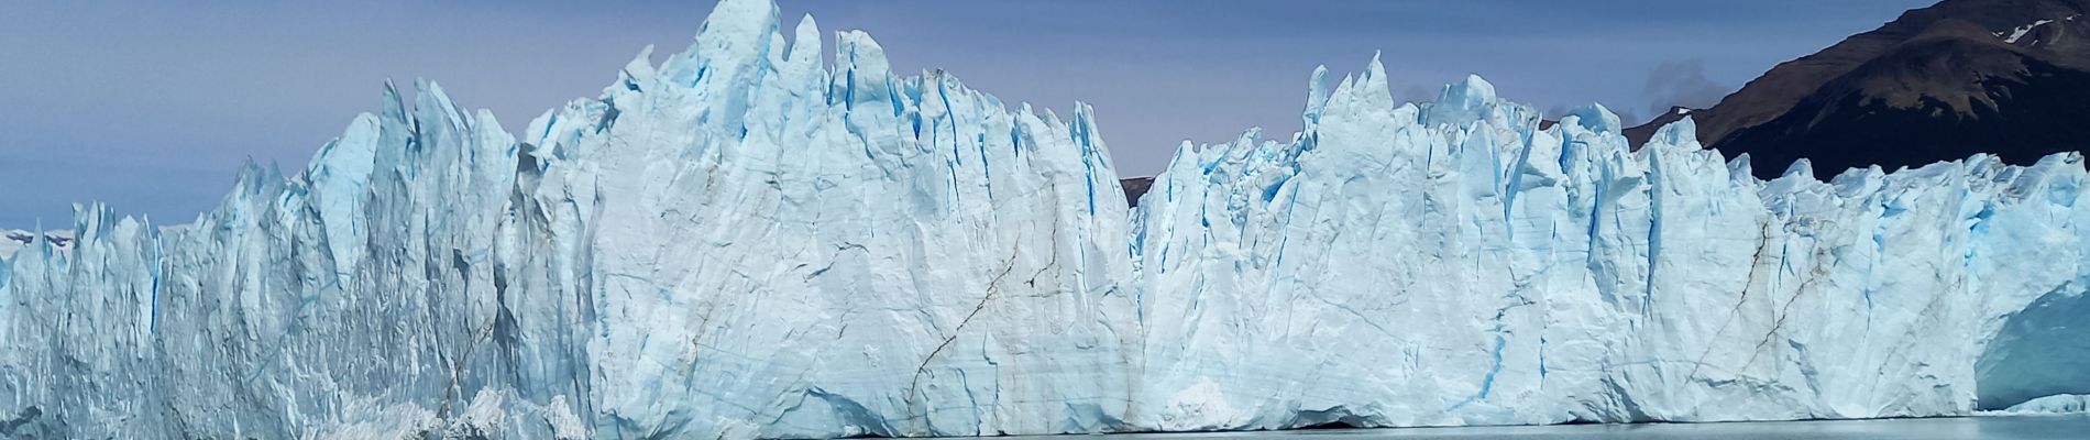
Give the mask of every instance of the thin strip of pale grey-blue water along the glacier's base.
[(1737, 421), (1737, 423), (1632, 423), (1632, 425), (1494, 425), (1494, 427), (1390, 427), (1390, 430), (1298, 430), (1298, 432), (1210, 432), (1210, 434), (1114, 434), (1114, 436), (1041, 436), (1060, 440), (1131, 440), (1131, 438), (1292, 438), (1292, 440), (1363, 440), (1363, 438), (1547, 438), (1547, 440), (2046, 440), (2090, 438), (2090, 417), (2027, 415), (2027, 417), (1956, 417), (1956, 419), (1850, 419), (1850, 421)]

